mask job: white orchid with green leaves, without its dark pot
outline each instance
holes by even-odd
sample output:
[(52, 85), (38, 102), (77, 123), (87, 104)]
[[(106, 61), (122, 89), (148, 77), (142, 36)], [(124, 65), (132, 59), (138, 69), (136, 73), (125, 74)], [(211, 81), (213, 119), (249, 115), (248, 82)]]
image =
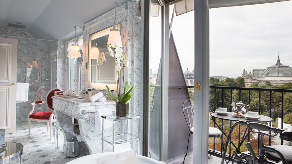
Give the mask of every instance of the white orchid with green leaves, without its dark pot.
[[(117, 43), (114, 43), (114, 45), (111, 44), (107, 44), (106, 45), (110, 56), (115, 57), (117, 59), (117, 66), (116, 66), (116, 70), (118, 72), (118, 83), (117, 83), (117, 88), (118, 88), (118, 96), (114, 96), (111, 92), (111, 90), (109, 89), (108, 86), (107, 87), (107, 91), (109, 92), (108, 95), (109, 97), (112, 98), (112, 100), (114, 100), (117, 103), (127, 103), (130, 99), (131, 99), (131, 91), (133, 90), (133, 87), (131, 87), (131, 84), (126, 81), (125, 83), (125, 78), (124, 78), (124, 69), (125, 67), (128, 67), (128, 63), (127, 63), (127, 59), (128, 57), (126, 57), (126, 53), (123, 53), (123, 49), (117, 46)], [(120, 70), (122, 70), (122, 75), (123, 75), (123, 84), (124, 84), (124, 93), (120, 94), (119, 91), (119, 72)]]

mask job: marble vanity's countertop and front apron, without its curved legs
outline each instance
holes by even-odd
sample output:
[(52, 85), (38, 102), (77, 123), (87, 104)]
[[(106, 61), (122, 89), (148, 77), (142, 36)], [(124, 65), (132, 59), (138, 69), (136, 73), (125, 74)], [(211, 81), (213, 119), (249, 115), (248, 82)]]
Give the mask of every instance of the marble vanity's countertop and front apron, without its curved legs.
[(97, 108), (110, 107), (115, 110), (116, 102), (90, 102), (89, 99), (77, 99), (72, 96), (53, 96), (53, 108), (77, 119), (94, 118), (94, 114), (82, 115), (81, 111), (96, 111)]

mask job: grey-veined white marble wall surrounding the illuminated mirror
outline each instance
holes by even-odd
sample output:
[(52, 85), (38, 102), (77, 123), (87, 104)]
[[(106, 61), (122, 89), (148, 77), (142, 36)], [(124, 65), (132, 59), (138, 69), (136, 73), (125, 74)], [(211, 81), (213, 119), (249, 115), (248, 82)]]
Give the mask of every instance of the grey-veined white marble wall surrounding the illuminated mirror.
[[(129, 113), (140, 115), (142, 111), (142, 93), (143, 93), (143, 55), (141, 52), (141, 20), (136, 16), (136, 11), (138, 4), (136, 2), (128, 1), (128, 9), (125, 10), (124, 6), (117, 6), (117, 18), (121, 19), (121, 38), (123, 43), (123, 51), (128, 55), (128, 68), (125, 71), (126, 79), (135, 85), (132, 91), (132, 98), (129, 100)], [(114, 4), (113, 4), (114, 6)], [(119, 21), (117, 21), (119, 22)], [(100, 31), (107, 27), (112, 26), (114, 23), (114, 10), (111, 10), (98, 18), (85, 24), (85, 29), (83, 32), (83, 53), (84, 61), (88, 61), (88, 37), (89, 34)], [(88, 69), (82, 69), (82, 86), (81, 88), (88, 88)], [(93, 93), (99, 91), (92, 90)], [(104, 94), (106, 92), (103, 92)], [(141, 118), (142, 119), (142, 118)], [(135, 135), (139, 133), (140, 122), (138, 119), (131, 123), (131, 132)], [(136, 153), (138, 153), (138, 143), (133, 145)]]

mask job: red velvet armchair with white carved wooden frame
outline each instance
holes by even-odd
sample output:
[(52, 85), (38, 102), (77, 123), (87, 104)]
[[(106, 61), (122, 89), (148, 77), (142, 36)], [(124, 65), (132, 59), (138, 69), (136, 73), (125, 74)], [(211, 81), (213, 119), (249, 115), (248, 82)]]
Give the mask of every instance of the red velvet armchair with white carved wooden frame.
[[(52, 139), (52, 123), (54, 122), (54, 118), (55, 118), (54, 113), (53, 113), (54, 109), (53, 109), (52, 97), (55, 95), (55, 91), (62, 91), (62, 90), (60, 88), (54, 88), (48, 92), (46, 96), (46, 101), (35, 101), (31, 103), (32, 110), (29, 112), (27, 116), (28, 137), (30, 137), (30, 121), (39, 121), (39, 122), (47, 122), (48, 132), (49, 132), (49, 124), (50, 124), (50, 139)], [(34, 112), (34, 109), (37, 108), (40, 104), (46, 104), (46, 111)]]

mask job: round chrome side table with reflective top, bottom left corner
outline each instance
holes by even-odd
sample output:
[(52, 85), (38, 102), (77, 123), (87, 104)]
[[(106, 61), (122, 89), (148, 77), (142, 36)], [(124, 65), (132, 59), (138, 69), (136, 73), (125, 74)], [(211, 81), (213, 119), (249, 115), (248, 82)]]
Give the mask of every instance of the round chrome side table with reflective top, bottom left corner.
[(9, 163), (19, 158), (19, 163), (22, 164), (23, 145), (17, 142), (5, 142), (7, 149), (0, 153), (0, 164)]

